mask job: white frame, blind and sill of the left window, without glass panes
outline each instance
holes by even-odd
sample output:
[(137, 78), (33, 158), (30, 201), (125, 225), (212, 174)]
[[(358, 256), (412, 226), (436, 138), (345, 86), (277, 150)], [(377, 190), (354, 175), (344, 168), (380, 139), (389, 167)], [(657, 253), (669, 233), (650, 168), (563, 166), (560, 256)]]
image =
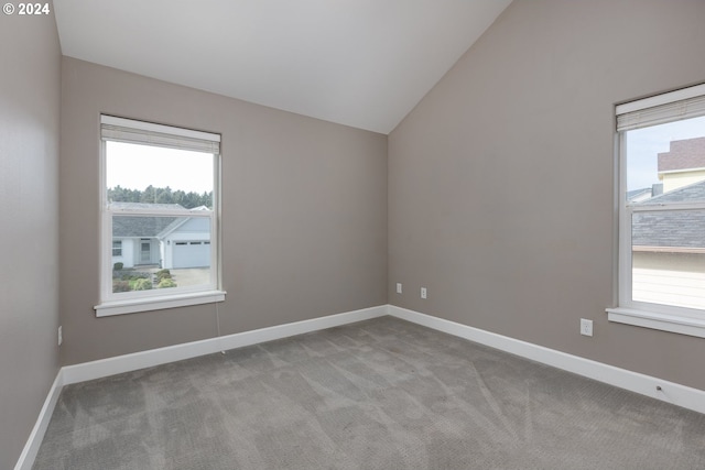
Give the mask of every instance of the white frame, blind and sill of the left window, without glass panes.
[[(213, 154), (213, 210), (145, 210), (111, 207), (107, 197), (106, 142), (128, 142)], [(113, 116), (100, 116), (100, 303), (96, 316), (132, 314), (225, 300), (220, 267), (220, 135)], [(113, 216), (203, 217), (210, 220), (210, 283), (202, 286), (112, 292)]]

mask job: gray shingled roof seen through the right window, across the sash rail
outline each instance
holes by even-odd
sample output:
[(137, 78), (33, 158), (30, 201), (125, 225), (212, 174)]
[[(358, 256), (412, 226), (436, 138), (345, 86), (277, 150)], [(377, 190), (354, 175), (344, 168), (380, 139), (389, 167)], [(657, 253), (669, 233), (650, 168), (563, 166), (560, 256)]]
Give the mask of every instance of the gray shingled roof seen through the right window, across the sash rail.
[[(654, 196), (636, 206), (705, 201), (705, 181)], [(705, 210), (634, 212), (631, 221), (634, 247), (705, 248)]]

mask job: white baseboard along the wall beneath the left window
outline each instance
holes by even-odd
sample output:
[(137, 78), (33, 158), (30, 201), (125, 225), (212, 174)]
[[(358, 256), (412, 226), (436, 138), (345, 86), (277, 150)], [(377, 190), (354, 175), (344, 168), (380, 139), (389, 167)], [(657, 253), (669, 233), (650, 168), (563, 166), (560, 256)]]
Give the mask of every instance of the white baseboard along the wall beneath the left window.
[(100, 379), (387, 315), (387, 305), (64, 367), (64, 384)]

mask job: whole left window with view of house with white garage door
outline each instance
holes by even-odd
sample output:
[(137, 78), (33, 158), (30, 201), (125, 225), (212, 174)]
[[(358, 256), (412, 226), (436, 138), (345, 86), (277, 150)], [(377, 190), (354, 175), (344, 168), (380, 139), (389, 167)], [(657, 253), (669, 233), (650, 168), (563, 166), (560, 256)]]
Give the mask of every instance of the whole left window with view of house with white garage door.
[(110, 116), (100, 123), (97, 315), (224, 300), (220, 135)]

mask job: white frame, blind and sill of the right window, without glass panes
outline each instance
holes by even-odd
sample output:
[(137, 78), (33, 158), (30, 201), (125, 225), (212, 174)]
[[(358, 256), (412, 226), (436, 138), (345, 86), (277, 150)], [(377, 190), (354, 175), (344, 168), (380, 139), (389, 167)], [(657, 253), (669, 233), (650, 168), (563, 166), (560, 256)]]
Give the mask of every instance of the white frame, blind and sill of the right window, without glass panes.
[(705, 84), (630, 101), (615, 108), (619, 183), (618, 205), (618, 306), (607, 308), (609, 321), (705, 338), (705, 310), (637, 302), (632, 297), (632, 215), (640, 211), (705, 209), (702, 204), (630, 205), (627, 194), (625, 132), (705, 116)]

